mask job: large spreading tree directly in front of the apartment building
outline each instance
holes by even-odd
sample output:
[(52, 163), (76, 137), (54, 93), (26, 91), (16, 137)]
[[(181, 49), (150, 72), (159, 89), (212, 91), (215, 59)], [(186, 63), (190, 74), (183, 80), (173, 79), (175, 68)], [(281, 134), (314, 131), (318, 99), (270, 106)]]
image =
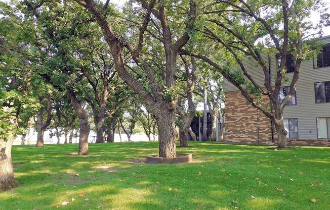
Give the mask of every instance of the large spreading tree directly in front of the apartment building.
[[(217, 1), (206, 2), (204, 8), (204, 38), (213, 43), (214, 48), (224, 48), (232, 55), (234, 64), (241, 71), (231, 72), (230, 62), (225, 57), (219, 61), (214, 55), (207, 53), (190, 53), (182, 50), (183, 54), (195, 56), (207, 62), (218, 70), (225, 79), (240, 90), (249, 103), (263, 112), (274, 122), (277, 131), (277, 146), (286, 147), (286, 134), (283, 125), (283, 109), (295, 95), (299, 78), (301, 61), (311, 52), (308, 21), (310, 12), (317, 9), (318, 2), (307, 1)], [(264, 47), (266, 43), (267, 47)], [(267, 48), (267, 50), (266, 50)], [(263, 54), (270, 53), (279, 58), (279, 68), (276, 70), (275, 83), (268, 67), (268, 60)], [(290, 82), (290, 92), (280, 99), (281, 85), (285, 82), (287, 55), (292, 54), (295, 61), (294, 73)], [(258, 84), (255, 78), (244, 66), (242, 57), (249, 56), (261, 67), (265, 76), (264, 84)], [(224, 61), (227, 61), (224, 65)], [(220, 63), (222, 62), (222, 63)], [(232, 64), (233, 64), (232, 63)], [(270, 105), (262, 104), (263, 98), (271, 101)]]

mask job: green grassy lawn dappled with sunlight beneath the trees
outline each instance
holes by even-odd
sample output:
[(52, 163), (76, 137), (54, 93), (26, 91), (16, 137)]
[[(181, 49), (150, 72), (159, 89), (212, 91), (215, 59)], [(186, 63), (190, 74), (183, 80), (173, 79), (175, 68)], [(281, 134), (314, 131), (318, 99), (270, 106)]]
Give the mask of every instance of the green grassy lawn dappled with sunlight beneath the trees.
[(177, 148), (193, 154), (188, 165), (136, 161), (158, 142), (90, 144), (89, 156), (64, 155), (76, 144), (14, 146), (17, 186), (0, 192), (0, 209), (330, 208), (330, 148), (190, 145)]

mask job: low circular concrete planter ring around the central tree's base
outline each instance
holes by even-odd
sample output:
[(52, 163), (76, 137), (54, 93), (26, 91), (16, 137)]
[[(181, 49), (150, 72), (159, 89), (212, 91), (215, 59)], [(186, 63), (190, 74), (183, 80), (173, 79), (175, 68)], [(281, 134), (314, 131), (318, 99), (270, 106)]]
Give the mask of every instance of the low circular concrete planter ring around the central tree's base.
[(147, 164), (182, 164), (191, 163), (192, 154), (177, 154), (176, 158), (159, 158), (159, 155), (147, 156)]

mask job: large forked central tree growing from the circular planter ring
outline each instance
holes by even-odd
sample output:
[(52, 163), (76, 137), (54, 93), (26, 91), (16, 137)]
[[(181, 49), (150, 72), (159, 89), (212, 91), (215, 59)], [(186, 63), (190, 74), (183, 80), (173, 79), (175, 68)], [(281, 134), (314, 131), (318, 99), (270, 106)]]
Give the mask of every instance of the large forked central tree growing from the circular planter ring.
[[(176, 72), (177, 55), (179, 50), (188, 42), (190, 38), (188, 33), (193, 29), (196, 14), (195, 2), (190, 0), (188, 4), (189, 9), (183, 9), (181, 11), (186, 15), (186, 27), (183, 27), (179, 33), (175, 33), (173, 28), (177, 27), (178, 24), (182, 25), (183, 21), (182, 19), (178, 19), (179, 22), (175, 21), (173, 23), (176, 25), (169, 25), (169, 18), (175, 20), (178, 17), (178, 13), (170, 10), (172, 8), (171, 4), (167, 5), (165, 2), (159, 1), (157, 7), (154, 7), (155, 0), (150, 3), (144, 0), (140, 1), (140, 5), (144, 8), (144, 18), (142, 19), (142, 24), (139, 25), (139, 33), (136, 34), (138, 38), (135, 38), (132, 43), (125, 41), (122, 37), (125, 31), (123, 34), (115, 33), (112, 28), (112, 23), (107, 21), (104, 8), (106, 8), (108, 1), (101, 9), (93, 0), (75, 0), (75, 2), (87, 8), (93, 14), (99, 26), (102, 28), (104, 38), (111, 49), (111, 54), (119, 77), (142, 97), (150, 112), (156, 117), (159, 131), (159, 156), (164, 158), (175, 157), (177, 140), (175, 111), (177, 99), (172, 93), (175, 90), (178, 77)], [(187, 8), (187, 3), (182, 2), (179, 7), (175, 7), (175, 9), (178, 8)], [(153, 17), (151, 17), (151, 14)], [(172, 17), (169, 17), (169, 14)], [(182, 14), (180, 14), (180, 17), (182, 17)], [(148, 24), (151, 18), (155, 27), (158, 27), (159, 32), (153, 39), (161, 42), (166, 57), (166, 63), (161, 67), (164, 72), (164, 77), (160, 78), (160, 80), (154, 76), (152, 66), (143, 59), (140, 59), (141, 52), (147, 50), (143, 49), (144, 34), (148, 30)], [(149, 31), (151, 30), (152, 29)], [(126, 35), (131, 33), (129, 31), (126, 32)], [(133, 34), (133, 36), (135, 36), (135, 34)], [(139, 81), (125, 66), (123, 55), (125, 48), (129, 50), (134, 64), (143, 70), (149, 83), (148, 89), (143, 82)]]

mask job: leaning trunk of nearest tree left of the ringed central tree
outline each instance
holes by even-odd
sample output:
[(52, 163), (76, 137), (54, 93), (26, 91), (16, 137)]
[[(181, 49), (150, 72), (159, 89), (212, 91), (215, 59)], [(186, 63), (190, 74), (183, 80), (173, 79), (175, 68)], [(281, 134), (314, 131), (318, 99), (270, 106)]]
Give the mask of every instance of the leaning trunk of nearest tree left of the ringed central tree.
[(88, 114), (81, 107), (78, 99), (76, 98), (72, 89), (69, 90), (69, 95), (72, 103), (72, 107), (79, 119), (79, 155), (89, 154), (88, 148), (88, 136), (90, 134), (90, 124), (88, 122)]

